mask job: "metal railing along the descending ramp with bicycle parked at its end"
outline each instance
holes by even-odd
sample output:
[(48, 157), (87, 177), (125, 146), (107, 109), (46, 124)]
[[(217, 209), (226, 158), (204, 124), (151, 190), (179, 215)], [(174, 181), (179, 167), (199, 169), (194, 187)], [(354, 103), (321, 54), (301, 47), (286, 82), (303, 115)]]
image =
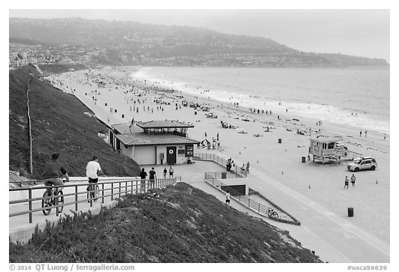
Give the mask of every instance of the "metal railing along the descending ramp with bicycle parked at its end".
[[(220, 190), (222, 190), (222, 187), (228, 188), (228, 190), (230, 191), (230, 195), (233, 199), (236, 199), (236, 201), (244, 204), (245, 206), (247, 206), (251, 210), (254, 210), (255, 212), (257, 212), (260, 215), (263, 215), (263, 216), (269, 217), (269, 218), (278, 217), (278, 213), (273, 208), (269, 208), (263, 204), (258, 203), (257, 201), (250, 199), (246, 195), (242, 195), (240, 192), (238, 192), (237, 190), (234, 190), (229, 185), (222, 183), (222, 181), (219, 181), (214, 176), (215, 176), (215, 173), (206, 172), (205, 173), (205, 181), (212, 184), (213, 186), (215, 186), (217, 188), (220, 188)], [(224, 192), (226, 192), (226, 191), (224, 191)]]

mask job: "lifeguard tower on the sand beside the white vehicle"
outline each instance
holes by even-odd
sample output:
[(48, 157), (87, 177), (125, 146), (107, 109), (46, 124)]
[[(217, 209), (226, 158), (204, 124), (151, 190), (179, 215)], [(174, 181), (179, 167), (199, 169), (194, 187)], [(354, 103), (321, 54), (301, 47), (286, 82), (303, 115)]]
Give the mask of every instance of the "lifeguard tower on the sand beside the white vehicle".
[(345, 145), (338, 143), (336, 138), (315, 138), (310, 139), (309, 154), (312, 154), (313, 161), (321, 163), (341, 163), (342, 160), (353, 160), (355, 156), (362, 156), (360, 153), (352, 152)]

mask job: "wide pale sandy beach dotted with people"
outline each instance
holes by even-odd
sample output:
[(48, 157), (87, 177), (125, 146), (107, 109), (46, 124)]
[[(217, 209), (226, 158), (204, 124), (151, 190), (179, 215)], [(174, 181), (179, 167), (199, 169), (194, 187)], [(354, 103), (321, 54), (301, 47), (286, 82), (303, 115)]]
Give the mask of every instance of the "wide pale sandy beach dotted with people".
[[(265, 173), (339, 217), (348, 218), (347, 208), (353, 207), (355, 217), (351, 217), (352, 224), (390, 242), (389, 135), (384, 140), (382, 132), (369, 130), (367, 136), (360, 136), (355, 127), (327, 121), (317, 125), (317, 116), (291, 116), (284, 107), (273, 114), (258, 114), (247, 108), (209, 100), (204, 93), (189, 96), (179, 91), (150, 90), (157, 85), (144, 82), (144, 79), (134, 82), (128, 76), (129, 69), (105, 67), (89, 72), (73, 71), (51, 75), (48, 80), (55, 87), (73, 93), (85, 104), (95, 106), (98, 109), (96, 116), (105, 123), (130, 123), (132, 118), (135, 121), (179, 120), (195, 125), (188, 131), (190, 138), (212, 141), (219, 134), (220, 148), (212, 152), (233, 158), (237, 165), (249, 162), (250, 169)], [(99, 87), (94, 80), (105, 82), (104, 87)], [(207, 111), (184, 107), (182, 100), (209, 104), (209, 112), (218, 118), (206, 117)], [(222, 127), (221, 122), (232, 128)], [(354, 173), (346, 170), (351, 161), (326, 165), (314, 163), (312, 159), (308, 161), (310, 138), (317, 136), (339, 138), (339, 143), (345, 144), (349, 150), (375, 156), (377, 170)], [(306, 157), (305, 163), (301, 161), (303, 156)], [(352, 174), (357, 178), (355, 187), (349, 185), (344, 189), (345, 176)], [(284, 208), (284, 203), (268, 195), (266, 189), (262, 193)], [(287, 212), (295, 217), (295, 210)]]

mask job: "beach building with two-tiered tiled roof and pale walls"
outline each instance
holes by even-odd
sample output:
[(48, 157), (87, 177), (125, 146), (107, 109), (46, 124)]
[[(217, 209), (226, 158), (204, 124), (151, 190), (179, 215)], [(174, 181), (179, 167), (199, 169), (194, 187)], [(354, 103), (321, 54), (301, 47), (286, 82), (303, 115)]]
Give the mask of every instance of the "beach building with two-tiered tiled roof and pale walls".
[(114, 124), (109, 143), (117, 152), (133, 158), (139, 165), (187, 163), (194, 155), (198, 140), (188, 138), (193, 125), (175, 120)]

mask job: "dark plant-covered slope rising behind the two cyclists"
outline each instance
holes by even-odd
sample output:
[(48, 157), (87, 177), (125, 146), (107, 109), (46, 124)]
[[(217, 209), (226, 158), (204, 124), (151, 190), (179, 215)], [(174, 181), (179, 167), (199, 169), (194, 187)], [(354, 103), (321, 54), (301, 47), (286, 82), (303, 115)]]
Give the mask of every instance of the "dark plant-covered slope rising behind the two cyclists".
[[(98, 132), (107, 132), (105, 124), (89, 116), (91, 111), (80, 100), (56, 89), (46, 80), (39, 80), (37, 75), (34, 66), (23, 66), (22, 69), (9, 72), (10, 170), (40, 180), (45, 161), (53, 152), (59, 152), (60, 161), (71, 176), (85, 176), (85, 167), (93, 156), (100, 158), (99, 162), (105, 175), (139, 175), (139, 165), (135, 161), (116, 154), (112, 147), (98, 136)], [(28, 174), (28, 81), (33, 134), (32, 176)]]

